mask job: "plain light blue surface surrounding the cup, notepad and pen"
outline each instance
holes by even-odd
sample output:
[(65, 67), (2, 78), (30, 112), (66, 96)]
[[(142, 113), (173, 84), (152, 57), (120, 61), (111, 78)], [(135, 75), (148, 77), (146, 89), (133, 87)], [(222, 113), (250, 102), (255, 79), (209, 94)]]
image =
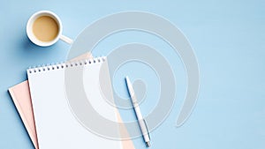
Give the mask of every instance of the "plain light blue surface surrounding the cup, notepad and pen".
[[(167, 57), (176, 77), (177, 97), (169, 117), (151, 133), (152, 148), (264, 149), (264, 8), (262, 0), (2, 1), (0, 148), (34, 148), (7, 89), (27, 79), (28, 66), (64, 61), (70, 49), (62, 41), (49, 48), (40, 48), (28, 41), (27, 19), (35, 11), (49, 10), (62, 19), (64, 34), (72, 39), (95, 20), (119, 11), (153, 12), (169, 19), (186, 35), (200, 65), (201, 88), (193, 114), (178, 128), (175, 123), (185, 97), (186, 72), (178, 55), (168, 45), (150, 34), (128, 32), (114, 34), (93, 52), (95, 56), (102, 56), (118, 45), (140, 42), (152, 45)], [(113, 83), (121, 96), (127, 95), (125, 89), (118, 89), (124, 88), (118, 81), (130, 66), (133, 67), (133, 63), (117, 71)], [(147, 78), (144, 72), (141, 74), (141, 78)], [(133, 72), (129, 75), (133, 80), (139, 77)], [(148, 86), (158, 86), (153, 82)], [(147, 103), (151, 98), (147, 94), (141, 105), (144, 115), (148, 114)], [(133, 139), (133, 142), (136, 148), (145, 148), (141, 138)]]

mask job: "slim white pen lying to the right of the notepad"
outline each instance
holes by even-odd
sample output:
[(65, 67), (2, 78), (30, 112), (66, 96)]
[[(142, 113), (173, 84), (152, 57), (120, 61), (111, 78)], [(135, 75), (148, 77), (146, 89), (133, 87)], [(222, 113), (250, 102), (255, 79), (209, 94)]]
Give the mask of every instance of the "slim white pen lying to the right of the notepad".
[(127, 84), (127, 87), (128, 87), (128, 90), (129, 90), (129, 93), (130, 93), (130, 96), (131, 96), (131, 99), (133, 102), (133, 108), (134, 108), (135, 114), (137, 116), (138, 123), (140, 125), (140, 130), (141, 130), (142, 136), (146, 142), (146, 145), (148, 147), (150, 147), (151, 144), (150, 144), (148, 126), (147, 126), (147, 123), (145, 122), (145, 120), (143, 119), (143, 117), (140, 113), (140, 108), (139, 108), (136, 96), (134, 94), (134, 91), (133, 91), (133, 86), (132, 86), (132, 83), (131, 83), (130, 79), (128, 78), (128, 76), (126, 76), (126, 84)]

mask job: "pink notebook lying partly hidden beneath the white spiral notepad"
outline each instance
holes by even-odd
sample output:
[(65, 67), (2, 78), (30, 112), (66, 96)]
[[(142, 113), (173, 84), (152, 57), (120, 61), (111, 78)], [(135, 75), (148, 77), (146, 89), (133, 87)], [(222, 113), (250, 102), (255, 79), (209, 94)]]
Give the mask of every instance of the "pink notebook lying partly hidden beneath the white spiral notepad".
[[(90, 53), (84, 54), (81, 56), (78, 56), (72, 61), (80, 60), (80, 59), (87, 59), (92, 57)], [(9, 88), (9, 93), (11, 94), (11, 98), (16, 106), (16, 108), (19, 111), (19, 115), (22, 119), (22, 122), (24, 123), (27, 133), (29, 134), (29, 137), (31, 138), (34, 147), (38, 149), (38, 139), (37, 134), (35, 130), (35, 124), (34, 124), (34, 114), (33, 114), (33, 108), (32, 108), (32, 102), (31, 97), (29, 93), (29, 86), (27, 80), (19, 83), (16, 86), (12, 86)], [(123, 120), (121, 116), (119, 115), (118, 111), (116, 111), (117, 114), (117, 121), (122, 123)], [(128, 131), (126, 130), (125, 126), (122, 126), (120, 128), (121, 134), (129, 136)], [(133, 141), (132, 140), (123, 140), (122, 145), (124, 149), (133, 149)]]

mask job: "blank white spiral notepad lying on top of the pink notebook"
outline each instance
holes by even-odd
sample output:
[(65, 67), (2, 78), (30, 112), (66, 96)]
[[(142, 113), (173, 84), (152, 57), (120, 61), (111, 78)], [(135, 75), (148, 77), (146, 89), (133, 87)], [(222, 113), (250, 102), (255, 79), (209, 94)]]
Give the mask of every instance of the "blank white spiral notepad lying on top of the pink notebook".
[(121, 148), (106, 135), (118, 127), (96, 118), (117, 119), (106, 57), (30, 68), (27, 77), (40, 149)]

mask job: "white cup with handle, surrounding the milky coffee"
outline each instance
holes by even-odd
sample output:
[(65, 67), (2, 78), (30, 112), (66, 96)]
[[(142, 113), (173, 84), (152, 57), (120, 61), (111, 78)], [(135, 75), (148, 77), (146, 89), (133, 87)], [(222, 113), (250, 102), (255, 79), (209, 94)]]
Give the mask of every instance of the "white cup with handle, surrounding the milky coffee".
[[(57, 33), (56, 38), (54, 38), (52, 41), (41, 41), (34, 35), (34, 32), (33, 32), (34, 21), (42, 16), (48, 16), (57, 22), (58, 33)], [(34, 42), (34, 44), (41, 46), (41, 47), (51, 46), (55, 44), (59, 39), (68, 44), (72, 44), (72, 39), (64, 36), (62, 32), (63, 32), (62, 21), (52, 11), (37, 11), (27, 21), (27, 37), (29, 38), (30, 41)]]

